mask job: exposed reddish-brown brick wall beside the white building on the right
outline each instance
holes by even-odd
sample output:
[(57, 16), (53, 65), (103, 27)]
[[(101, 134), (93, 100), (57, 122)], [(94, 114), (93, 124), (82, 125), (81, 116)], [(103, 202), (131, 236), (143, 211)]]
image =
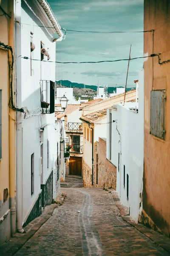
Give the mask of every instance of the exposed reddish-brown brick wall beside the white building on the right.
[[(96, 184), (96, 153), (98, 153), (98, 184)], [(106, 159), (106, 141), (101, 138), (94, 157), (94, 184), (116, 189), (116, 167)]]

